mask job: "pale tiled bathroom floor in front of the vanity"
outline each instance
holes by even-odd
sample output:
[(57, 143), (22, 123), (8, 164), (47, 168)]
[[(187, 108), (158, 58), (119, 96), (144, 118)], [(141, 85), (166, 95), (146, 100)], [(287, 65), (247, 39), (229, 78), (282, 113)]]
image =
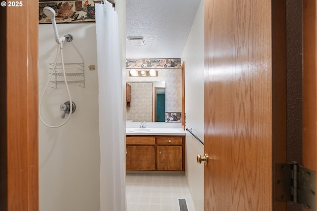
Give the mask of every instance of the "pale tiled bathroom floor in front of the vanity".
[(185, 174), (127, 173), (127, 211), (179, 211), (186, 199), (195, 211)]

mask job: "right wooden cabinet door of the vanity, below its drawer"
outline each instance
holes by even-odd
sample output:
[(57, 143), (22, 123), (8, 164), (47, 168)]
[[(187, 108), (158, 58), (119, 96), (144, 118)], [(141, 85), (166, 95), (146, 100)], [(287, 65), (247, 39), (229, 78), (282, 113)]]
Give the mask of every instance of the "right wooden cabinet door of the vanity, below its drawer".
[(182, 146), (158, 146), (158, 171), (183, 170)]

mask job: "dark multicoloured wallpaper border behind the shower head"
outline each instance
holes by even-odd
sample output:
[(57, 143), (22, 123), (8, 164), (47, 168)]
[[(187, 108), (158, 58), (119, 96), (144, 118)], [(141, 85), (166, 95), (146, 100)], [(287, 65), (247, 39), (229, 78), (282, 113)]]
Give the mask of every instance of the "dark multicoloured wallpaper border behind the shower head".
[[(115, 0), (107, 0), (115, 5)], [(88, 23), (96, 22), (95, 3), (102, 3), (102, 0), (40, 0), (39, 23), (52, 23), (43, 8), (50, 6), (55, 10), (56, 23)]]

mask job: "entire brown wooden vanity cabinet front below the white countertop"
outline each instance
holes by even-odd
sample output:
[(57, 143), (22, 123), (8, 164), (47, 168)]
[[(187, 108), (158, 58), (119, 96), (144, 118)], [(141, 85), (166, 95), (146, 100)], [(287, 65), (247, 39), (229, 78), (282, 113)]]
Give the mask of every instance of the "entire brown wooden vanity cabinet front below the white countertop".
[(185, 171), (185, 136), (127, 136), (126, 170)]

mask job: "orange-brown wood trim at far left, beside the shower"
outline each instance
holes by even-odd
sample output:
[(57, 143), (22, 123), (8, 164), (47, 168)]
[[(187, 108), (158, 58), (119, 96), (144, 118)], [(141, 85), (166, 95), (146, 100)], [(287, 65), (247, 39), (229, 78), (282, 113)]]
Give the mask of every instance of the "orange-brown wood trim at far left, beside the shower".
[[(5, 211), (38, 211), (38, 1), (6, 9)], [(2, 140), (1, 140), (2, 141)], [(1, 171), (3, 168), (1, 163)], [(3, 209), (1, 209), (3, 210)]]

